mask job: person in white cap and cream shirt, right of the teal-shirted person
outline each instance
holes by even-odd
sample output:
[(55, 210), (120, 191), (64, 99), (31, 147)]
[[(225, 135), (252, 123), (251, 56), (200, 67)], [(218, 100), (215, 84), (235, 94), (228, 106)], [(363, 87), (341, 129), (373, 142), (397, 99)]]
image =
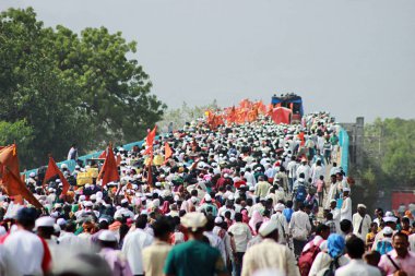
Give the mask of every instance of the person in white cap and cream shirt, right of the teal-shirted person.
[(249, 248), (245, 253), (241, 275), (249, 276), (257, 271), (274, 268), (286, 276), (299, 276), (294, 254), (287, 247), (277, 243), (277, 223), (275, 220), (263, 223), (259, 235), (264, 240)]

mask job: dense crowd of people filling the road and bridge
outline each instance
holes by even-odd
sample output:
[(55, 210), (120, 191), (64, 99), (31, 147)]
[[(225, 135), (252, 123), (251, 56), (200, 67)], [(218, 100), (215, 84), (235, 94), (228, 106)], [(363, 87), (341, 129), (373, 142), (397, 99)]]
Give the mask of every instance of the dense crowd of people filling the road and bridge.
[(0, 196), (0, 276), (415, 275), (415, 205), (371, 217), (352, 203), (339, 128), (325, 112), (214, 130), (201, 119), (159, 136), (166, 163), (151, 164), (149, 145), (115, 148), (120, 180), (106, 185), (63, 195), (59, 178), (32, 173), (44, 209)]

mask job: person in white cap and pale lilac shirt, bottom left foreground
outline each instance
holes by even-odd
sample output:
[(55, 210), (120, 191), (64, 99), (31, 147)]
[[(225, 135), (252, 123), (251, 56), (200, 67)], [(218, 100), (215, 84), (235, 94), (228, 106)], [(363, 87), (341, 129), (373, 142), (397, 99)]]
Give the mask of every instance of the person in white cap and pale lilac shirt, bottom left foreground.
[(132, 276), (127, 259), (117, 250), (118, 241), (112, 231), (102, 231), (98, 236), (98, 244), (102, 248), (99, 255), (107, 261), (112, 271), (112, 276)]

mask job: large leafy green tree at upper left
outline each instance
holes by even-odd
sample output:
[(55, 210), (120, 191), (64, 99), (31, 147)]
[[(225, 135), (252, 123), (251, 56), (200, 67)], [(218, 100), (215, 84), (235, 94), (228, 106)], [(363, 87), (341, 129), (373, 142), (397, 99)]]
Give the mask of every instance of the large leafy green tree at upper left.
[(134, 59), (135, 43), (105, 27), (81, 35), (46, 28), (33, 9), (0, 15), (0, 120), (25, 120), (31, 147), (22, 163), (66, 157), (72, 143), (81, 153), (106, 142), (127, 143), (145, 135), (166, 108), (150, 93), (151, 82)]

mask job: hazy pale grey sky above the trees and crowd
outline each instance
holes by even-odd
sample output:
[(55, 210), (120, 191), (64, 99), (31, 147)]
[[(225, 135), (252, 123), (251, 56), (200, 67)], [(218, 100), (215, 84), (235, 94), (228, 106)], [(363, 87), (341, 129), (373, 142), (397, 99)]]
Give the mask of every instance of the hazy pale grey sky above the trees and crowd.
[(414, 0), (1, 0), (121, 31), (169, 107), (296, 92), (339, 121), (415, 118)]

